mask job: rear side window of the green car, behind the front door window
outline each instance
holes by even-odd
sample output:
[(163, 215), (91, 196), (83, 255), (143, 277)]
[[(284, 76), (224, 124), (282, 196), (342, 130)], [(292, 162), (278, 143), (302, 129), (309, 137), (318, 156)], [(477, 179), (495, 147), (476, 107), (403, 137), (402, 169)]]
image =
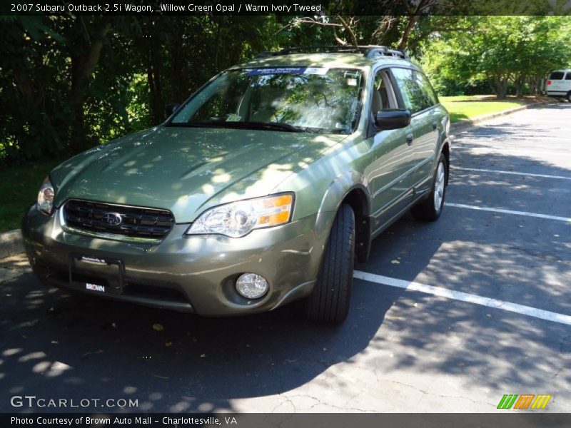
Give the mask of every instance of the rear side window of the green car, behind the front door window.
[(397, 86), (403, 96), (405, 108), (410, 113), (423, 111), (425, 108), (434, 106), (437, 102), (436, 95), (425, 76), (407, 68), (391, 68), (391, 71), (393, 71)]

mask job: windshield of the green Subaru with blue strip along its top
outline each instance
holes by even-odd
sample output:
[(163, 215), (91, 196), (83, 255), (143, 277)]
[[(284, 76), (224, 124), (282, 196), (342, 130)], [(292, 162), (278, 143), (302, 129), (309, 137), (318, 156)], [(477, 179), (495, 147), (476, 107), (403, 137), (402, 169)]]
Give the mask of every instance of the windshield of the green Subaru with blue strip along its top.
[(222, 73), (168, 126), (351, 133), (363, 73), (349, 68), (245, 68)]

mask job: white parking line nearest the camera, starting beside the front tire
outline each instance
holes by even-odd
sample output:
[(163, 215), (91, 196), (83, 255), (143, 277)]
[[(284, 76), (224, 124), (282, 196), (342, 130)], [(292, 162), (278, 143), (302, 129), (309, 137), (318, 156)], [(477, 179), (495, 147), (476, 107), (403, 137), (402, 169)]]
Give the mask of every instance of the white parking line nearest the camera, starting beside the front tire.
[(494, 309), (507, 310), (517, 314), (527, 315), (528, 317), (540, 318), (542, 320), (559, 322), (560, 324), (571, 325), (571, 316), (550, 312), (548, 310), (537, 309), (525, 305), (517, 305), (517, 303), (504, 302), (503, 300), (491, 299), (490, 297), (482, 297), (478, 295), (468, 294), (467, 292), (448, 290), (442, 287), (433, 287), (432, 285), (420, 284), (420, 282), (398, 280), (396, 278), (385, 277), (383, 275), (375, 275), (374, 273), (362, 272), (355, 270), (353, 277), (358, 280), (375, 282), (376, 284), (390, 285), (390, 287), (404, 288), (408, 291), (425, 292), (430, 295), (447, 297), (449, 299), (461, 300), (463, 302), (475, 303), (492, 307)]

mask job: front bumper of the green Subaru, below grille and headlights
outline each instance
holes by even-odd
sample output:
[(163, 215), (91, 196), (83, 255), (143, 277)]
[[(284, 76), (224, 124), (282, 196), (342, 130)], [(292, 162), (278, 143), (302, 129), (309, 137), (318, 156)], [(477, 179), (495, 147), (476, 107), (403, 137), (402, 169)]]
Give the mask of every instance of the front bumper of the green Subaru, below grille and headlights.
[[(243, 238), (186, 236), (188, 225), (175, 225), (161, 243), (150, 244), (69, 233), (61, 228), (59, 210), (47, 217), (32, 206), (22, 235), (30, 264), (47, 285), (198, 315), (246, 315), (310, 294), (333, 217), (310, 215), (253, 230)], [(113, 264), (85, 263), (81, 256)], [(70, 266), (74, 278), (80, 278), (77, 282), (71, 281)], [(248, 300), (238, 295), (234, 283), (244, 272), (268, 280), (264, 297)], [(86, 290), (86, 283), (102, 282), (104, 293)]]

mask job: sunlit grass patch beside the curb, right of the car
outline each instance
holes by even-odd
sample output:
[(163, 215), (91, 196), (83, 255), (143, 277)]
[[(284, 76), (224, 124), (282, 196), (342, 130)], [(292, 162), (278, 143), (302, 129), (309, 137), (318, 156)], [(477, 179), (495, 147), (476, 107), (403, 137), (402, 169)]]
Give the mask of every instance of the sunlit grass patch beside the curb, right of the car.
[(477, 118), (485, 114), (497, 113), (509, 110), (524, 104), (539, 101), (534, 97), (515, 98), (508, 97), (505, 100), (497, 100), (495, 96), (440, 96), (440, 103), (450, 113), (452, 123)]

